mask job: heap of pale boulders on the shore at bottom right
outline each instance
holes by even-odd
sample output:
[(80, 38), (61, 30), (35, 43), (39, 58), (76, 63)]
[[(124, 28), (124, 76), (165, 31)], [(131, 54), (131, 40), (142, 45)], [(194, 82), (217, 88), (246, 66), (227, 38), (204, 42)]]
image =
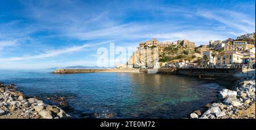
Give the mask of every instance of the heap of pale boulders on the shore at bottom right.
[(240, 116), (240, 110), (246, 110), (255, 103), (255, 78), (237, 81), (236, 89), (222, 89), (218, 101), (201, 107), (190, 114), (192, 119), (236, 119), (254, 118)]

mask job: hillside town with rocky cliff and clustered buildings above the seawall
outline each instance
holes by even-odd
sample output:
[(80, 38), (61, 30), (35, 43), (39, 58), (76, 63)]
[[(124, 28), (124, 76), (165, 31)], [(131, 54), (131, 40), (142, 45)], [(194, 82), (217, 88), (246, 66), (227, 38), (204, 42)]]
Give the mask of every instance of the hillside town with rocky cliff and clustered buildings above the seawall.
[[(158, 50), (158, 57), (153, 50)], [(146, 51), (146, 61), (142, 51)], [(147, 54), (150, 54), (148, 56)], [(150, 57), (150, 58), (148, 58)], [(137, 60), (138, 59), (138, 60)], [(150, 62), (147, 62), (151, 59)], [(158, 62), (153, 62), (158, 60)], [(151, 63), (151, 64), (148, 64)], [(195, 45), (189, 40), (163, 41), (156, 38), (139, 42), (126, 64), (117, 68), (255, 68), (255, 32), (236, 39), (210, 40), (208, 45)]]

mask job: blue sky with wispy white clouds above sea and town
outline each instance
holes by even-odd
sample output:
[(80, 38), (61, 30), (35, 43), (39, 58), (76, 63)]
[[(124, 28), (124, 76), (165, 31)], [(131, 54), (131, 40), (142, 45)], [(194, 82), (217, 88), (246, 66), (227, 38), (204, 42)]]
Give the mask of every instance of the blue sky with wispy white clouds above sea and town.
[[(255, 1), (0, 1), (0, 69), (97, 66), (100, 47), (255, 32)], [(118, 57), (118, 54), (115, 54)], [(129, 58), (127, 54), (125, 58)]]

